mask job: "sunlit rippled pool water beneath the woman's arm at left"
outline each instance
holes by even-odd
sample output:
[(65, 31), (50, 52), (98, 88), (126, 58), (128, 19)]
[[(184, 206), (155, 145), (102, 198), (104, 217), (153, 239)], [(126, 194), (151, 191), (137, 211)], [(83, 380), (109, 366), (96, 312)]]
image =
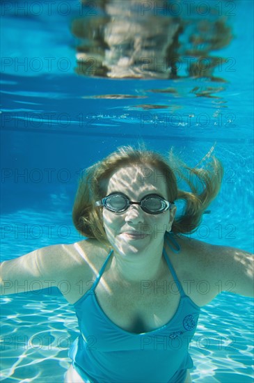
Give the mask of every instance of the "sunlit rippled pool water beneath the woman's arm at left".
[[(13, 296), (8, 303), (5, 301), (13, 315), (8, 315), (6, 320), (4, 311), (1, 312), (4, 323), (1, 380), (51, 382), (53, 376), (55, 382), (63, 381), (70, 362), (67, 350), (77, 336), (77, 319), (61, 297), (52, 297), (53, 302), (43, 298), (45, 300), (35, 301), (26, 295), (25, 305), (24, 295)], [(51, 306), (51, 310), (45, 310), (46, 306)], [(31, 314), (31, 308), (36, 313)]]

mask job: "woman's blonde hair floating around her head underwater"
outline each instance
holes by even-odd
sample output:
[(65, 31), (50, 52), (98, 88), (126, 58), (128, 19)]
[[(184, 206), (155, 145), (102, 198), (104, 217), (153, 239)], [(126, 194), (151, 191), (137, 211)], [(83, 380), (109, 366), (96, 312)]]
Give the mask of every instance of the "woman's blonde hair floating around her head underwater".
[[(223, 166), (219, 159), (211, 157), (214, 148), (193, 168), (180, 161), (172, 150), (168, 158), (145, 148), (122, 146), (102, 161), (90, 166), (79, 182), (74, 201), (72, 219), (79, 233), (86, 237), (107, 242), (103, 227), (102, 209), (95, 202), (106, 196), (106, 182), (111, 175), (122, 166), (146, 165), (161, 172), (165, 179), (168, 201), (184, 201), (184, 209), (180, 217), (173, 221), (173, 233), (193, 233), (202, 219), (207, 206), (219, 193)], [(208, 163), (207, 163), (207, 160)], [(206, 166), (200, 164), (206, 162)], [(186, 175), (187, 173), (187, 175)], [(219, 175), (219, 176), (218, 176)], [(178, 189), (177, 178), (184, 180), (189, 191)]]

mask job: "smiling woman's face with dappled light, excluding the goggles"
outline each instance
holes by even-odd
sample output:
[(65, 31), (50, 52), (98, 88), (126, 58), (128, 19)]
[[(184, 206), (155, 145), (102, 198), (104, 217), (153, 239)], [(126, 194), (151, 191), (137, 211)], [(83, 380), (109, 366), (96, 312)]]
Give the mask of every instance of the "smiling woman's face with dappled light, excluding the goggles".
[[(121, 192), (134, 202), (148, 194), (158, 194), (168, 201), (164, 175), (145, 165), (125, 166), (113, 173), (105, 196), (113, 192)], [(175, 207), (160, 214), (148, 214), (140, 205), (131, 205), (125, 212), (103, 208), (106, 236), (114, 251), (122, 256), (163, 246), (165, 231), (170, 231), (174, 216)]]

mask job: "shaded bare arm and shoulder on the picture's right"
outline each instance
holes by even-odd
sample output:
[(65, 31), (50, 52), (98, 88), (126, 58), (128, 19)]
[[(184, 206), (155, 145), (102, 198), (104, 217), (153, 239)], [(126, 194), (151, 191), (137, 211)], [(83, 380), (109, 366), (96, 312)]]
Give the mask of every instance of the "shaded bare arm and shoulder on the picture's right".
[[(185, 236), (177, 241), (182, 257), (178, 255), (175, 264), (185, 286), (189, 283), (187, 295), (198, 305), (207, 304), (221, 292), (253, 296), (253, 254)], [(184, 259), (182, 265), (180, 258)]]

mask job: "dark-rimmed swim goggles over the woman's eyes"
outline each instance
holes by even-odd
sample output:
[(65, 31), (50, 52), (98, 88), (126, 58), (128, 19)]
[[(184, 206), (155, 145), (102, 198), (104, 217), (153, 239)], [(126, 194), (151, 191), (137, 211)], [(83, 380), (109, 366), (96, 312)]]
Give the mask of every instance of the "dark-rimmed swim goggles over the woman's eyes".
[(96, 206), (104, 206), (107, 210), (115, 213), (125, 212), (130, 205), (140, 205), (141, 209), (148, 214), (160, 214), (166, 212), (173, 205), (157, 194), (148, 194), (141, 201), (130, 201), (125, 194), (120, 192), (109, 194), (95, 203)]

